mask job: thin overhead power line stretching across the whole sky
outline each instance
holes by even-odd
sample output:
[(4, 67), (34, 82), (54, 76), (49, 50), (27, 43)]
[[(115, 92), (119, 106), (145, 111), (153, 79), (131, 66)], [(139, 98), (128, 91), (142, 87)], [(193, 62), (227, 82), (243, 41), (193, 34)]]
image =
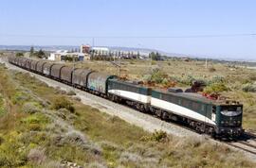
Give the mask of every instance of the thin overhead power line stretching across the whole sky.
[(184, 36), (60, 36), (60, 35), (32, 35), (32, 34), (0, 34), (0, 37), (16, 38), (56, 38), (56, 39), (198, 39), (198, 38), (229, 38), (254, 37), (255, 33), (243, 34), (212, 34), (212, 35), (184, 35)]

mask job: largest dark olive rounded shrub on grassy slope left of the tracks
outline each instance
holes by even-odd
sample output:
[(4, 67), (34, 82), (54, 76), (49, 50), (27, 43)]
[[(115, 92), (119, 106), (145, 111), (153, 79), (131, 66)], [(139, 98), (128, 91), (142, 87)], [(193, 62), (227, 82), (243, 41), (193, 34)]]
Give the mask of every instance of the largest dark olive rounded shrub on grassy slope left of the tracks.
[(75, 112), (73, 103), (68, 101), (65, 97), (55, 99), (53, 101), (52, 109), (68, 109), (70, 112)]

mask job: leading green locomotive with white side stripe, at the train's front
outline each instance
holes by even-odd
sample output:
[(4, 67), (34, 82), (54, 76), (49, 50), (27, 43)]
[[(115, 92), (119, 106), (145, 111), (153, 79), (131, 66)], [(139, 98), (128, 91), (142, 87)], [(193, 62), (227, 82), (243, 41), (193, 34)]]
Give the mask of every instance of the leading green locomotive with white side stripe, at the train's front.
[(243, 133), (243, 105), (211, 100), (194, 92), (153, 91), (152, 111), (163, 119), (181, 120), (199, 132), (239, 137)]

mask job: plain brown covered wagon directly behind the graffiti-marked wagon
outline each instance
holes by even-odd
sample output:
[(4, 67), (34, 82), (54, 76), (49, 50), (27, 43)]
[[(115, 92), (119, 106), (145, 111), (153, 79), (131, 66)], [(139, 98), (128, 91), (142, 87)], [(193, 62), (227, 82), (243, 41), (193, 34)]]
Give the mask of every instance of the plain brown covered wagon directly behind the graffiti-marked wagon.
[(91, 73), (93, 73), (93, 71), (91, 71), (91, 70), (76, 69), (73, 72), (72, 83), (77, 85), (77, 86), (87, 88), (88, 75), (91, 74)]

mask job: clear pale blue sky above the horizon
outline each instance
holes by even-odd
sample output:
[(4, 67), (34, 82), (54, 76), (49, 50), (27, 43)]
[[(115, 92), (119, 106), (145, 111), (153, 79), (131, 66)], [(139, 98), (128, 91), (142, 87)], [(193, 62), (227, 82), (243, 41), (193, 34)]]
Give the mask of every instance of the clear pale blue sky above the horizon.
[(255, 8), (254, 0), (1, 0), (0, 44), (79, 45), (101, 37), (95, 45), (255, 59), (256, 36), (188, 37), (255, 34)]

